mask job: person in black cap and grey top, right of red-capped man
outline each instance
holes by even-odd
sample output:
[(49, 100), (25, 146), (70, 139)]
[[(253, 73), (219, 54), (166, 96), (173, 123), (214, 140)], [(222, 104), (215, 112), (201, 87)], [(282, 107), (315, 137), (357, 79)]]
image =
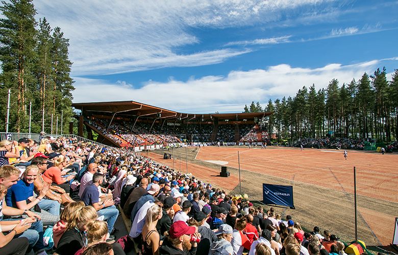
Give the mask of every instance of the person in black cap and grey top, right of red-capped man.
[(207, 219), (206, 214), (198, 212), (193, 218), (198, 223), (197, 232), (201, 234), (201, 242), (197, 244), (196, 254), (209, 254), (211, 244), (218, 241), (217, 236), (210, 228), (204, 226)]

